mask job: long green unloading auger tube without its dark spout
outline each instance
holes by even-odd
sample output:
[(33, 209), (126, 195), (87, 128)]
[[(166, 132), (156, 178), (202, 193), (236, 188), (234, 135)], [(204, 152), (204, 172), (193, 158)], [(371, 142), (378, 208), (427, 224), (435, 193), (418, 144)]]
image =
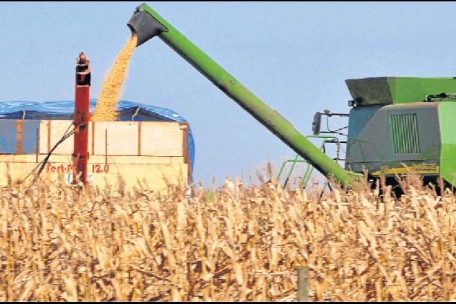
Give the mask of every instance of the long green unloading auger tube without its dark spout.
[(237, 102), (245, 111), (255, 117), (258, 122), (266, 126), (269, 131), (279, 137), (296, 153), (311, 162), (324, 175), (333, 175), (342, 184), (352, 184), (351, 172), (345, 171), (339, 164), (336, 164), (325, 153), (321, 152), (305, 136), (301, 135), (292, 124), (285, 120), (282, 115), (269, 108), (267, 104), (256, 97), (254, 93), (251, 93), (236, 78), (227, 73), (216, 61), (213, 61), (211, 57), (202, 52), (200, 48), (184, 37), (170, 23), (158, 15), (157, 12), (145, 3), (138, 10), (144, 10), (149, 13), (151, 17), (167, 28), (167, 31), (161, 32), (158, 36), (162, 41), (199, 70), (202, 75), (205, 75), (207, 79)]

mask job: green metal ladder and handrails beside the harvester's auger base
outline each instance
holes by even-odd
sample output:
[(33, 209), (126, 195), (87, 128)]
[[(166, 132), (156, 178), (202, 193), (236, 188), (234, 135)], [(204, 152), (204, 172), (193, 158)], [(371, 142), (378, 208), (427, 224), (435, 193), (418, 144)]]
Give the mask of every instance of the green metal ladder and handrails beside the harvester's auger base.
[[(340, 148), (341, 148), (341, 141), (339, 140), (339, 137), (331, 136), (331, 135), (307, 135), (306, 137), (307, 138), (320, 138), (322, 140), (321, 145), (320, 145), (320, 149), (321, 149), (321, 151), (323, 151), (323, 153), (325, 153), (325, 144), (327, 142), (332, 142), (332, 143), (337, 144), (337, 154), (336, 154), (336, 158), (334, 160), (335, 161), (340, 160), (339, 153), (340, 153)], [(283, 183), (283, 187), (285, 187), (287, 185), (287, 183), (289, 181), (289, 178), (292, 176), (294, 167), (298, 163), (307, 164), (307, 167), (305, 168), (303, 177), (301, 178), (301, 182), (299, 182), (299, 188), (303, 189), (303, 188), (307, 187), (308, 184), (309, 184), (310, 177), (312, 176), (312, 173), (314, 172), (315, 168), (314, 168), (314, 166), (312, 166), (312, 164), (307, 162), (307, 160), (304, 160), (303, 158), (301, 158), (298, 154), (296, 154), (296, 156), (294, 157), (293, 160), (285, 160), (283, 162), (280, 171), (278, 171), (277, 180), (280, 180), (281, 175), (282, 175), (283, 171), (285, 170), (285, 167), (289, 163), (292, 164), (292, 167), (289, 169), (289, 172), (287, 174), (287, 178), (285, 178), (285, 182)], [(323, 191), (324, 191), (324, 189), (326, 187), (330, 187), (329, 180), (326, 180), (325, 185), (323, 187)]]

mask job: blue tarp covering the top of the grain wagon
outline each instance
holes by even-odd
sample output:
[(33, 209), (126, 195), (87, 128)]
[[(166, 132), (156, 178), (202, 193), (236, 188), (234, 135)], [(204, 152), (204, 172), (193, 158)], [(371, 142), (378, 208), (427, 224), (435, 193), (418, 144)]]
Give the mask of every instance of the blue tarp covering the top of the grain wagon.
[[(97, 104), (97, 99), (90, 100), (91, 112)], [(121, 100), (117, 106), (120, 111), (121, 121), (134, 122), (187, 122), (168, 108), (149, 106)], [(0, 118), (11, 120), (73, 120), (75, 113), (74, 101), (55, 101), (55, 102), (28, 102), (13, 101), (0, 102)], [(189, 125), (189, 155), (191, 161), (191, 171), (195, 160), (195, 142)]]

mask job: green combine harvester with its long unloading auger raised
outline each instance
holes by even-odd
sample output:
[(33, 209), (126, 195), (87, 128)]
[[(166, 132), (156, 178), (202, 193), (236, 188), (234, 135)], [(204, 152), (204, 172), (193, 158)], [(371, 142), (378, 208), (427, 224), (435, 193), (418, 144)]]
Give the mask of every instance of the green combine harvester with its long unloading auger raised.
[[(424, 182), (435, 182), (440, 176), (448, 185), (456, 185), (456, 78), (346, 80), (353, 98), (348, 102), (350, 114), (316, 113), (311, 136), (323, 140), (318, 148), (146, 3), (136, 8), (127, 24), (137, 35), (137, 46), (159, 37), (293, 149), (298, 154), (290, 161), (293, 166), (306, 162), (327, 178), (349, 187), (365, 171), (371, 178), (385, 176), (388, 184), (397, 184), (397, 175), (419, 173)], [(322, 115), (348, 116), (347, 139), (320, 135)], [(339, 134), (337, 130), (326, 133)], [(322, 151), (326, 142), (337, 144), (336, 159)], [(347, 145), (345, 169), (336, 162), (341, 159), (341, 144)]]

